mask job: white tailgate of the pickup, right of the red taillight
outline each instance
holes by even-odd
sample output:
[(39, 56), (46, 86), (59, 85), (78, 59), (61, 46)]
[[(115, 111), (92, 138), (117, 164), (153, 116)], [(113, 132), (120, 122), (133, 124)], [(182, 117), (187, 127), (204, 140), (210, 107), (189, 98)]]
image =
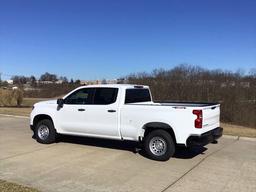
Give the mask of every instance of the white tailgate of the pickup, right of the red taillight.
[(220, 122), (220, 104), (202, 109), (203, 125), (202, 128)]

